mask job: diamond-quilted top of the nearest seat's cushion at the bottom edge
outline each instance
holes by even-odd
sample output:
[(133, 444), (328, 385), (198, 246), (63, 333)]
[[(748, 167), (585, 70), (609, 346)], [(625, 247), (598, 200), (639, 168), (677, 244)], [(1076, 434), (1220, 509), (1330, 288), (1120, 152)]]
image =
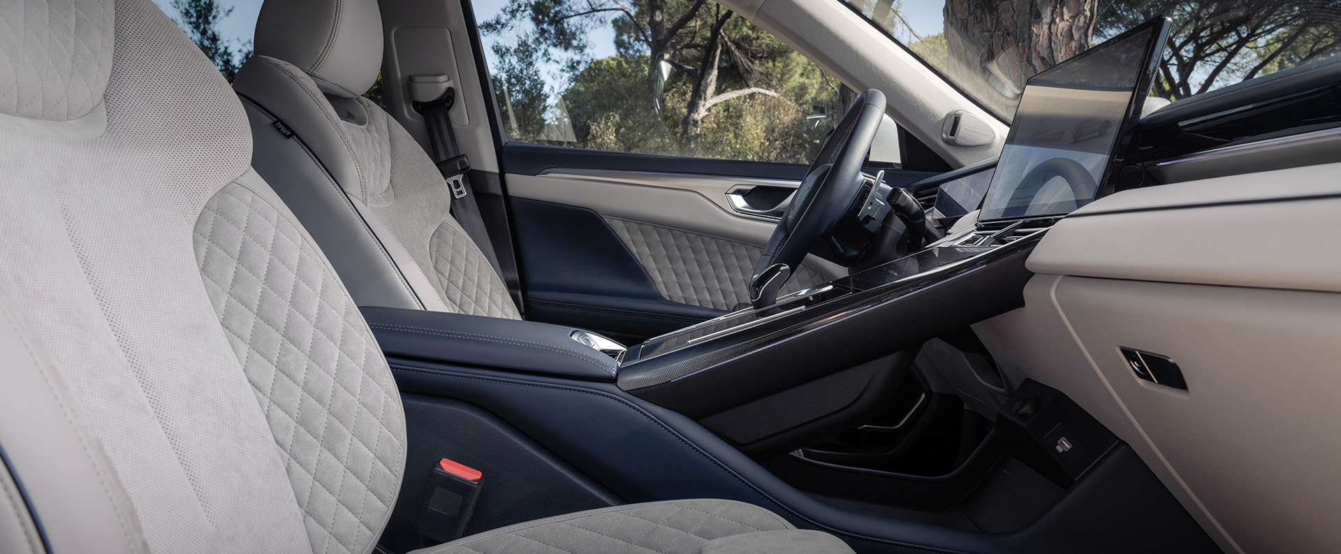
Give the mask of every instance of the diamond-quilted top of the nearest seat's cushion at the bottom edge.
[(789, 529), (767, 511), (719, 500), (633, 504), (443, 545), (432, 554), (591, 551), (691, 554), (704, 543), (744, 533)]

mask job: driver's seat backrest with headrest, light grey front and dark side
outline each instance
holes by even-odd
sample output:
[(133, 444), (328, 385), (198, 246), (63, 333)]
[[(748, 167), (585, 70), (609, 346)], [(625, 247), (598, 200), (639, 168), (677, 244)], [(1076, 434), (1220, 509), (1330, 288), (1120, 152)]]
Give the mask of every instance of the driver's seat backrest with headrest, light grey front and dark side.
[(377, 1), (267, 1), (255, 40), (256, 55), (233, 80), (255, 130), (252, 165), (325, 247), (354, 299), (520, 319), (493, 266), (452, 219), (432, 160), (359, 97), (382, 62)]

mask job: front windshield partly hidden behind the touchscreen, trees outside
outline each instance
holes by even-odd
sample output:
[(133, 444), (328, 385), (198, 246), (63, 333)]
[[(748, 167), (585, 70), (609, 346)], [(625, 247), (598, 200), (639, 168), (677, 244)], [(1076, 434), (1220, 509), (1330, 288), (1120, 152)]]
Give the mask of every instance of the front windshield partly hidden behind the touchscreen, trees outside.
[(1341, 0), (838, 1), (1006, 122), (1030, 76), (1159, 15), (1173, 28), (1151, 94), (1169, 101), (1341, 51)]

